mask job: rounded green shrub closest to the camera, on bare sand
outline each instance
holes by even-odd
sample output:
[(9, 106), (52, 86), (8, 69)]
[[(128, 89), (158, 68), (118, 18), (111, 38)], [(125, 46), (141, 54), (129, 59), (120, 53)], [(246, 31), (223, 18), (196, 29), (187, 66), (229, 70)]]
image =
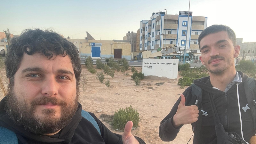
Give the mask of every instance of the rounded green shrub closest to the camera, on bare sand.
[(138, 124), (140, 122), (140, 113), (138, 113), (138, 110), (135, 108), (132, 108), (130, 105), (129, 108), (120, 108), (118, 109), (113, 118), (113, 127), (114, 129), (123, 130), (125, 127), (125, 124), (128, 121), (132, 121), (133, 127), (138, 127)]

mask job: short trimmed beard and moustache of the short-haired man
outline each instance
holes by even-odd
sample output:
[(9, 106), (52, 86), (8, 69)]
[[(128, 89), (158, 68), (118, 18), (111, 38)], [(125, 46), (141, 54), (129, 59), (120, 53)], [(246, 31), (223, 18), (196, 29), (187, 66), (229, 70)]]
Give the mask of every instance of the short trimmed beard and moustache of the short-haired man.
[[(208, 64), (211, 64), (211, 61), (212, 60), (215, 60), (215, 59), (221, 59), (221, 60), (226, 60), (226, 64), (223, 65), (222, 67), (220, 67), (220, 64), (217, 63), (217, 64), (214, 64), (213, 67), (215, 68), (210, 68), (208, 66)], [(231, 63), (231, 60), (230, 59), (225, 59), (224, 57), (221, 57), (221, 56), (214, 56), (214, 57), (211, 57), (210, 60), (208, 60), (207, 64), (205, 65), (205, 68), (212, 74), (214, 75), (222, 75), (225, 70), (227, 70), (228, 68), (230, 68), (232, 66), (232, 63)]]

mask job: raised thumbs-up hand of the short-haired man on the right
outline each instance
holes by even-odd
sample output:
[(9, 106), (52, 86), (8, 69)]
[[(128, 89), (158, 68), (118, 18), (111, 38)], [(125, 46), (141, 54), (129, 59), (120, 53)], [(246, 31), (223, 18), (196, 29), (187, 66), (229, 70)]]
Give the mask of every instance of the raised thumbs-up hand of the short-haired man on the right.
[(196, 105), (185, 106), (185, 97), (180, 95), (181, 101), (176, 114), (173, 116), (172, 124), (174, 127), (179, 127), (181, 124), (192, 124), (198, 120), (198, 107)]

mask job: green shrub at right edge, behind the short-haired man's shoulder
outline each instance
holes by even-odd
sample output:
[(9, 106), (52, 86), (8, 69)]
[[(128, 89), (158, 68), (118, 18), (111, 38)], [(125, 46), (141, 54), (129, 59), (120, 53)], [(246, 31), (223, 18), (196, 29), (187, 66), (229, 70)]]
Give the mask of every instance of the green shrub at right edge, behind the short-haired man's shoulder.
[(241, 60), (236, 66), (236, 70), (240, 70), (244, 73), (252, 73), (256, 71), (256, 66), (249, 60)]

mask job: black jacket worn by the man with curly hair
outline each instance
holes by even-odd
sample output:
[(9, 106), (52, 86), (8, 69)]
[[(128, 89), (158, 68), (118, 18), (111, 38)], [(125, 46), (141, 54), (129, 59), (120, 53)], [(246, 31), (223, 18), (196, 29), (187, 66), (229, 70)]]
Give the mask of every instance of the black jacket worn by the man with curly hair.
[[(100, 127), (101, 134), (97, 129), (81, 115), (82, 105), (76, 111), (70, 124), (63, 128), (59, 133), (52, 136), (36, 135), (28, 132), (22, 126), (14, 124), (4, 110), (5, 98), (0, 102), (0, 126), (8, 128), (16, 133), (19, 144), (122, 144), (122, 135), (115, 134), (101, 123), (93, 114), (89, 114), (96, 120)], [(140, 144), (145, 142), (135, 137)]]

